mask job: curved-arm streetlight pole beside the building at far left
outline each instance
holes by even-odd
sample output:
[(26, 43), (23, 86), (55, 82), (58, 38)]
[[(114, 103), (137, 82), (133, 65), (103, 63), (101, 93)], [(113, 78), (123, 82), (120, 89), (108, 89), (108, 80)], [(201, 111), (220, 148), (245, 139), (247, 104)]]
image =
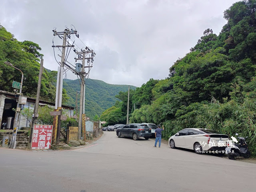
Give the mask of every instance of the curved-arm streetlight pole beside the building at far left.
[[(17, 69), (17, 70), (20, 71), (21, 74), (22, 74), (22, 76), (21, 76), (21, 83), (20, 83), (20, 95), (19, 95), (19, 98), (20, 98), (20, 96), (21, 96), (21, 94), (22, 94), (23, 72), (22, 72), (20, 69), (14, 67), (14, 66), (12, 65), (12, 63), (10, 63), (10, 62), (8, 62), (8, 61), (6, 61), (6, 62), (4, 62), (4, 63), (5, 63), (6, 65), (10, 65), (10, 66), (13, 67), (14, 69)], [(14, 127), (13, 127), (13, 133), (12, 133), (12, 140), (11, 140), (11, 142), (10, 142), (10, 148), (11, 148), (11, 149), (15, 149), (15, 147), (16, 147), (16, 135), (17, 135), (17, 127), (18, 127), (19, 116), (20, 116), (20, 104), (19, 104), (19, 102), (18, 102), (17, 107), (16, 107), (15, 118), (14, 118)]]

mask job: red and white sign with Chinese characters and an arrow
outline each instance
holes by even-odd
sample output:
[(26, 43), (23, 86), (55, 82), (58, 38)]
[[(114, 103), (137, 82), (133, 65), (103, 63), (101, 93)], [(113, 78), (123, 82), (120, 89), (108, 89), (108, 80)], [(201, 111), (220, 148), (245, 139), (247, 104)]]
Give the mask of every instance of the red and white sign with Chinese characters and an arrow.
[(34, 125), (32, 149), (50, 149), (52, 143), (52, 125)]

